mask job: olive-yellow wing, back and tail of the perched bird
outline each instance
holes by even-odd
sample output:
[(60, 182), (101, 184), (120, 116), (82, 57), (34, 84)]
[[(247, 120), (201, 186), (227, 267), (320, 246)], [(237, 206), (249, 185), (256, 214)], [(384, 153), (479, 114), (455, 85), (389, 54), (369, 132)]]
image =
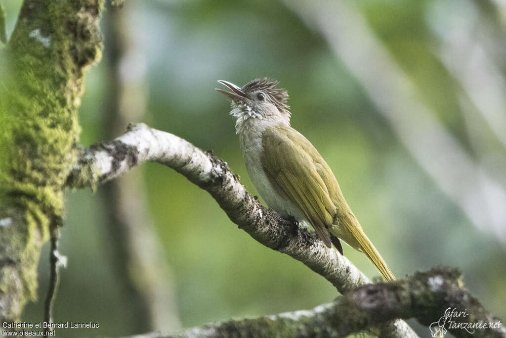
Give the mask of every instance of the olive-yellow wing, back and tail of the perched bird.
[(330, 234), (341, 238), (364, 252), (387, 281), (395, 280), (311, 142), (293, 128), (278, 125), (264, 131), (262, 143), (261, 161), (267, 175), (302, 210), (323, 243), (330, 247)]

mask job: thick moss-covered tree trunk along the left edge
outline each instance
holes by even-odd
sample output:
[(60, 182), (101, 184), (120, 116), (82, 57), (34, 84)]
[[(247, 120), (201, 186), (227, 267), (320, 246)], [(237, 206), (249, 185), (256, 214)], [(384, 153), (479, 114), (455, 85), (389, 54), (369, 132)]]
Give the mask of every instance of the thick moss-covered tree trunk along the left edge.
[[(103, 1), (25, 1), (9, 45), (0, 51), (0, 200), (6, 206), (0, 218), (7, 219), (8, 210), (22, 212), (21, 218), (9, 216), (17, 220), (11, 226), (0, 227), (0, 260), (12, 261), (9, 269), (21, 276), (14, 302), (21, 308), (36, 295), (40, 247), (64, 216), (83, 72), (100, 57), (102, 9)], [(8, 283), (14, 281), (2, 271), (0, 289), (15, 292)]]

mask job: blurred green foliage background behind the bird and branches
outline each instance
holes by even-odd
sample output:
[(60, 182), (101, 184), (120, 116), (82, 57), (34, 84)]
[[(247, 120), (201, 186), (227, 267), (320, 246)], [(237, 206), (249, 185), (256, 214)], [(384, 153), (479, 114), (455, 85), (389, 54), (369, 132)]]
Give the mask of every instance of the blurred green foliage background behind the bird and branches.
[[(506, 317), (504, 245), (474, 227), (446, 198), (316, 31), (278, 2), (129, 2), (135, 13), (131, 31), (147, 62), (144, 122), (213, 149), (257, 195), (234, 135), (229, 102), (213, 88), (218, 79), (239, 85), (264, 76), (279, 80), (290, 94), (292, 126), (329, 163), (394, 274), (402, 278), (438, 265), (458, 267), (485, 307)], [(10, 34), (20, 3), (11, 0), (4, 5)], [(472, 153), (458, 104), (459, 85), (432, 52), (436, 40), (427, 17), (433, 5), (429, 0), (355, 4), (438, 119)], [(108, 39), (105, 31), (106, 46)], [(100, 141), (107, 128), (108, 53), (106, 49), (103, 61), (88, 74), (80, 109), (85, 145)], [(237, 229), (207, 193), (181, 175), (155, 164), (135, 170), (144, 172), (150, 211), (173, 273), (184, 327), (309, 309), (337, 295), (301, 263)], [(98, 189), (67, 196), (61, 252), (68, 256), (69, 266), (62, 271), (55, 318), (57, 322), (96, 321), (100, 327), (61, 334), (140, 333), (138, 309), (123, 292), (112, 266), (115, 238), (108, 232), (103, 193)], [(26, 321), (42, 320), (41, 300), (49, 278), (47, 250), (39, 268), (40, 300), (27, 307)], [(365, 274), (377, 275), (363, 254), (347, 246), (344, 250)], [(429, 333), (426, 328), (419, 330)]]

